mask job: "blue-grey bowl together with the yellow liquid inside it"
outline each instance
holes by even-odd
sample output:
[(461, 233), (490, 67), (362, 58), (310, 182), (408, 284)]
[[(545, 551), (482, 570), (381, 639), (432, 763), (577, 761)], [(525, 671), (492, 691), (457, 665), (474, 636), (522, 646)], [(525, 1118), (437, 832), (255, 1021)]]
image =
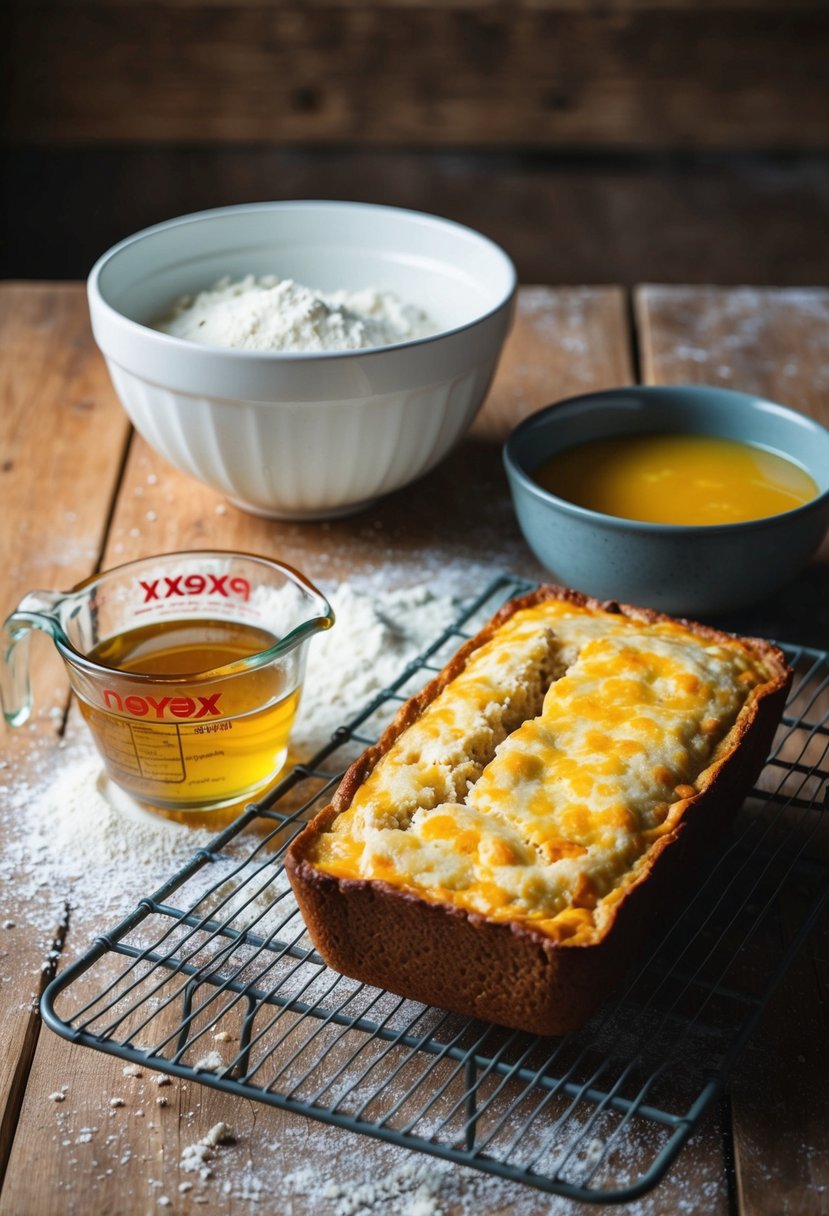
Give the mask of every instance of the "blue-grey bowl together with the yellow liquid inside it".
[(672, 615), (758, 603), (829, 527), (829, 430), (749, 393), (570, 398), (519, 423), (503, 460), (519, 527), (553, 581)]

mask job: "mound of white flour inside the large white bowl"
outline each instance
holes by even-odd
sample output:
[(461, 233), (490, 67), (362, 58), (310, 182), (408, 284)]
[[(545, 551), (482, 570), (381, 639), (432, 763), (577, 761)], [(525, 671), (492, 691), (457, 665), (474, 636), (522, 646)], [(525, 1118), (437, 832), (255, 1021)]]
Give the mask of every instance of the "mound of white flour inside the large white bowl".
[(209, 347), (275, 353), (365, 350), (425, 338), (438, 326), (391, 292), (318, 292), (292, 278), (221, 278), (184, 295), (156, 328)]

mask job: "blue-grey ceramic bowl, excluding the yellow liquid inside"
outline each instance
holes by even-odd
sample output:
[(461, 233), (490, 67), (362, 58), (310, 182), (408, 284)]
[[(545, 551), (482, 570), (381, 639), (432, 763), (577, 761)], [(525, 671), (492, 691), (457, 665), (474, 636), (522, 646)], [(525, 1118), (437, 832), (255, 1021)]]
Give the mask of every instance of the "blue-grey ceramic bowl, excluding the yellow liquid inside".
[[(556, 452), (643, 432), (717, 435), (795, 461), (818, 485), (802, 507), (746, 523), (639, 523), (575, 506), (532, 474)], [(793, 579), (829, 525), (829, 430), (748, 393), (677, 385), (620, 388), (551, 405), (525, 418), (503, 451), (518, 522), (557, 581), (607, 599), (682, 615), (745, 608)]]

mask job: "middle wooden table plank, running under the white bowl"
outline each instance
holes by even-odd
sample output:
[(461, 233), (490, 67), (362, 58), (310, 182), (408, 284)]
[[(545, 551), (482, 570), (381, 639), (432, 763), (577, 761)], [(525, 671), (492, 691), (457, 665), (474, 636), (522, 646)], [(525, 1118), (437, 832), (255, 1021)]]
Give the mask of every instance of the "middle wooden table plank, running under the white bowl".
[[(75, 302), (80, 316), (79, 292)], [(410, 490), (351, 520), (309, 525), (269, 522), (226, 508), (218, 495), (171, 469), (136, 439), (103, 564), (209, 544), (273, 553), (326, 582), (361, 574), (371, 579), (380, 570), (390, 582), (419, 581), (455, 565), (458, 584), (478, 590), (481, 578), (504, 563), (537, 574), (512, 524), (495, 439), (523, 412), (557, 393), (630, 381), (631, 371), (622, 293), (534, 288), (521, 295), (515, 331), (478, 438)], [(67, 748), (80, 744), (74, 715), (67, 739)], [(63, 957), (71, 958), (101, 928), (84, 917), (83, 908), (73, 910)], [(64, 1099), (51, 1102), (49, 1094), (63, 1086)], [(156, 1098), (168, 1094), (168, 1105), (157, 1107)], [(112, 1098), (123, 1100), (124, 1107), (112, 1107)], [(210, 1178), (182, 1172), (184, 1149), (219, 1120), (233, 1128), (236, 1144), (220, 1150)], [(254, 1164), (248, 1166), (248, 1160)], [(402, 1171), (404, 1178), (413, 1167), (422, 1167), (419, 1158), (354, 1133), (233, 1100), (197, 1085), (175, 1082), (157, 1088), (150, 1074), (125, 1077), (117, 1060), (44, 1032), (0, 1211), (36, 1216), (46, 1210), (44, 1204), (52, 1203), (62, 1212), (132, 1216), (157, 1211), (158, 1200), (167, 1198), (174, 1211), (196, 1212), (197, 1200), (207, 1198), (212, 1211), (230, 1214), (247, 1210), (252, 1200), (244, 1199), (246, 1187), (254, 1194), (259, 1181), (269, 1195), (276, 1192), (281, 1197), (271, 1210), (299, 1216), (320, 1210), (320, 1176), (329, 1180), (331, 1187), (343, 1184), (348, 1193), (395, 1171)], [(692, 1186), (701, 1180), (714, 1199), (711, 1211), (724, 1212), (716, 1201), (722, 1193), (720, 1173), (717, 1135), (709, 1128), (666, 1184), (666, 1193), (679, 1195), (689, 1177)], [(532, 1216), (538, 1203), (547, 1204), (526, 1188), (468, 1171), (438, 1177), (441, 1210), (447, 1216), (468, 1211), (470, 1195), (479, 1198), (479, 1210), (492, 1216)], [(193, 1190), (180, 1193), (179, 1186), (188, 1182), (194, 1183)], [(333, 1199), (325, 1210), (334, 1211)], [(571, 1210), (571, 1205), (559, 1210)]]

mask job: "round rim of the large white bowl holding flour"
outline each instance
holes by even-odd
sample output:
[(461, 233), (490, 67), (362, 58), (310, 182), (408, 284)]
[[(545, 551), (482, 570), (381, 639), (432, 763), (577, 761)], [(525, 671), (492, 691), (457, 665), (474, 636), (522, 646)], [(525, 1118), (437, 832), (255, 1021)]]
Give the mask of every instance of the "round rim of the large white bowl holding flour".
[[(252, 214), (254, 212), (280, 212), (291, 209), (318, 209), (318, 210), (340, 210), (346, 208), (349, 210), (360, 212), (382, 212), (382, 213), (394, 213), (396, 215), (406, 216), (410, 220), (425, 221), (433, 224), (441, 229), (452, 229), (458, 233), (463, 233), (467, 237), (472, 237), (474, 241), (479, 242), (481, 246), (486, 246), (501, 261), (503, 270), (506, 272), (507, 287), (501, 294), (497, 303), (489, 308), (486, 311), (480, 313), (474, 316), (470, 321), (464, 321), (461, 325), (452, 326), (447, 330), (439, 330), (436, 333), (425, 334), (418, 338), (407, 338), (402, 342), (388, 343), (383, 347), (363, 347), (356, 350), (248, 350), (239, 347), (214, 347), (205, 343), (192, 342), (188, 338), (179, 338), (170, 333), (164, 333), (160, 330), (154, 330), (150, 325), (143, 325), (141, 321), (134, 321), (131, 317), (126, 316), (119, 309), (117, 309), (106, 298), (101, 289), (101, 275), (106, 268), (125, 249), (141, 241), (152, 240), (159, 232), (170, 231), (180, 225), (196, 224), (208, 219), (218, 216), (230, 216), (230, 215), (244, 215)], [(326, 362), (337, 360), (354, 360), (356, 359), (378, 359), (383, 355), (389, 355), (391, 351), (400, 350), (412, 350), (413, 348), (424, 347), (441, 342), (444, 339), (452, 338), (457, 334), (464, 333), (472, 328), (484, 325), (491, 317), (501, 314), (504, 309), (509, 309), (513, 304), (518, 292), (518, 271), (515, 264), (506, 249), (502, 248), (496, 241), (479, 232), (476, 229), (470, 227), (467, 224), (461, 224), (458, 220), (446, 219), (442, 215), (436, 215), (432, 212), (416, 210), (408, 207), (395, 207), (388, 203), (365, 203), (359, 199), (326, 199), (326, 198), (286, 198), (286, 199), (273, 199), (273, 201), (260, 201), (254, 203), (233, 203), (227, 207), (212, 207), (199, 212), (190, 212), (184, 215), (175, 215), (167, 220), (160, 220), (158, 224), (152, 224), (148, 227), (140, 229), (137, 232), (123, 237), (115, 244), (106, 249), (94, 263), (89, 275), (86, 277), (86, 294), (89, 299), (90, 310), (95, 310), (98, 314), (103, 314), (109, 317), (109, 320), (124, 327), (126, 332), (132, 332), (136, 337), (142, 340), (158, 342), (169, 350), (180, 349), (190, 354), (192, 358), (198, 359), (232, 359), (233, 361), (242, 362), (255, 362), (256, 360), (267, 360), (271, 362), (276, 360), (278, 362), (286, 364), (301, 364), (301, 362), (318, 362), (325, 360)], [(197, 353), (197, 354), (196, 354)]]

